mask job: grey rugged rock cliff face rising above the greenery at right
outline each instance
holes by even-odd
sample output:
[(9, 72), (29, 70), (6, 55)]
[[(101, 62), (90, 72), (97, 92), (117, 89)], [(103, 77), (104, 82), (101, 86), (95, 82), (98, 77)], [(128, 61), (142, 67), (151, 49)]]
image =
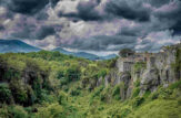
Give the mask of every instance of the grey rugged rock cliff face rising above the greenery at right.
[[(131, 65), (131, 69), (124, 69), (122, 67), (128, 67), (129, 65), (121, 65), (123, 60), (119, 58), (117, 61), (117, 67), (104, 78), (100, 78), (97, 82), (97, 86), (104, 84), (105, 86), (111, 85), (115, 86), (120, 83), (124, 84), (124, 88), (120, 89), (120, 96), (122, 99), (129, 98), (132, 95), (133, 84), (140, 82), (140, 95), (143, 95), (145, 92), (154, 92), (157, 88), (162, 85), (168, 87), (169, 84), (174, 83), (181, 78), (181, 71), (172, 66), (177, 60), (177, 50), (181, 47), (181, 44), (177, 46), (171, 46), (170, 49), (164, 50), (164, 52), (159, 52), (155, 54), (147, 54), (144, 58), (145, 67), (137, 69), (134, 64), (138, 63), (135, 60)], [(180, 52), (179, 52), (180, 53)], [(179, 58), (181, 60), (181, 58)], [(120, 72), (123, 71), (123, 72)], [(178, 73), (178, 76), (175, 76)], [(101, 84), (102, 83), (102, 84)]]

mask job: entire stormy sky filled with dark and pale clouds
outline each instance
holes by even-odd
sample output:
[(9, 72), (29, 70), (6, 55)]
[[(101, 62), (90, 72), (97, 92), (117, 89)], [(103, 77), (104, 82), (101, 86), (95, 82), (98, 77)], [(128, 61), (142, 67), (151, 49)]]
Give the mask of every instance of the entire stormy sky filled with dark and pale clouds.
[(0, 39), (101, 54), (181, 39), (181, 0), (0, 0)]

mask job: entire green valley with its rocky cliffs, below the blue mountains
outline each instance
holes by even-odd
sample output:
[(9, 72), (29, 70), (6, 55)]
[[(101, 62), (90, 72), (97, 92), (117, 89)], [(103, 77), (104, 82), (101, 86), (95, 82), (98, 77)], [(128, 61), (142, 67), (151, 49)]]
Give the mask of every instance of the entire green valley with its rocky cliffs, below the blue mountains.
[(48, 51), (0, 54), (0, 117), (180, 118), (180, 44), (130, 54), (105, 61)]

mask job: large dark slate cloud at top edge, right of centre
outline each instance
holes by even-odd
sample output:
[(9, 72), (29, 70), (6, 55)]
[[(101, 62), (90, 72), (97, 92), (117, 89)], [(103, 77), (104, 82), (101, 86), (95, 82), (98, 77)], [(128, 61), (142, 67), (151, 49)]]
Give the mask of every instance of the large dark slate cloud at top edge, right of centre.
[(130, 20), (149, 21), (150, 19), (150, 9), (144, 8), (143, 2), (129, 0), (110, 0), (105, 4), (105, 12)]

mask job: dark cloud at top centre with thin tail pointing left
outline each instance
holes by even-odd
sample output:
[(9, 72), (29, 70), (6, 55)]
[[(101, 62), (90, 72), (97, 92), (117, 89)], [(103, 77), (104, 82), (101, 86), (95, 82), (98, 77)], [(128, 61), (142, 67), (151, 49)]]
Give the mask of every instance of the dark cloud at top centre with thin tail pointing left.
[(59, 17), (72, 18), (73, 20), (98, 21), (102, 19), (95, 7), (99, 6), (100, 0), (81, 1), (77, 7), (77, 12), (63, 13), (59, 12)]

